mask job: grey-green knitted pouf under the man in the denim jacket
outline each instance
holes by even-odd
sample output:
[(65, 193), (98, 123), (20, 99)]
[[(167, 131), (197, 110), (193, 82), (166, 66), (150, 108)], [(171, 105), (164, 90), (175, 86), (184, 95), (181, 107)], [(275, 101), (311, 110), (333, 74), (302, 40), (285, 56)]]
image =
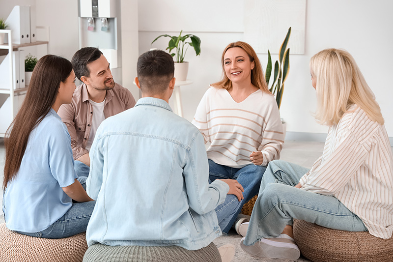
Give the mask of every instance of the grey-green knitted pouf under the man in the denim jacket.
[(107, 246), (94, 244), (83, 262), (221, 262), (217, 247), (189, 251), (178, 246)]

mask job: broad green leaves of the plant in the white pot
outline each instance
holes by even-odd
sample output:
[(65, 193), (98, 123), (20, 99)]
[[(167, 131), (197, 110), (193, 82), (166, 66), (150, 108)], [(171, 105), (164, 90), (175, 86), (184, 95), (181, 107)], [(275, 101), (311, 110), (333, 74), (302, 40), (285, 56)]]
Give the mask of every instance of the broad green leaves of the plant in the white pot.
[[(176, 56), (176, 62), (178, 63), (183, 63), (184, 62), (184, 57), (186, 56), (187, 49), (189, 46), (192, 46), (195, 50), (195, 53), (197, 56), (200, 55), (200, 39), (194, 34), (186, 34), (186, 35), (181, 35), (183, 30), (180, 31), (179, 36), (170, 36), (168, 34), (162, 34), (158, 36), (156, 39), (151, 42), (152, 44), (160, 37), (170, 37), (168, 47), (166, 50), (169, 50), (169, 54), (174, 57)], [(191, 42), (186, 42), (186, 39), (190, 38)], [(187, 46), (186, 50), (184, 50), (184, 46)], [(176, 53), (170, 53), (172, 50), (175, 49)]]

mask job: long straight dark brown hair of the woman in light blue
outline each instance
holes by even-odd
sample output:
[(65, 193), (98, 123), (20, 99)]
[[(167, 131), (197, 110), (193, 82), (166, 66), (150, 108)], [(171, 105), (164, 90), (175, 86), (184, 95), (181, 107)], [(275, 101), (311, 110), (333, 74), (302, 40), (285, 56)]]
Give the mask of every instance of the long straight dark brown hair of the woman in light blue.
[(71, 71), (70, 61), (54, 55), (42, 57), (34, 67), (25, 100), (4, 138), (3, 188), (18, 173), (30, 132), (48, 114), (55, 103), (60, 82), (65, 83)]

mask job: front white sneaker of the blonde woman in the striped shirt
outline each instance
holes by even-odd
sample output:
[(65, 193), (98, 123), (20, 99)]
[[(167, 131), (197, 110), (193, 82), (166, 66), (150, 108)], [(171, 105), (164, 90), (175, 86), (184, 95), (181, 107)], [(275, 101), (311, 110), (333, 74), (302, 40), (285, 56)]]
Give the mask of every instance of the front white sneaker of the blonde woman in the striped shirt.
[(299, 247), (287, 238), (262, 238), (252, 246), (243, 244), (245, 237), (240, 240), (240, 247), (253, 257), (297, 260), (300, 257)]

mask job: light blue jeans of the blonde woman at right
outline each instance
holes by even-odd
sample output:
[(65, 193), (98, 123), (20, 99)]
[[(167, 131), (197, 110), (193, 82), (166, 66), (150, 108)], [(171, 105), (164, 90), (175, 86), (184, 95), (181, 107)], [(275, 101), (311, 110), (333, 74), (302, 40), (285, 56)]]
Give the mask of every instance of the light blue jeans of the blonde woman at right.
[(255, 202), (245, 245), (276, 237), (293, 218), (344, 231), (367, 231), (363, 221), (337, 198), (294, 186), (309, 170), (281, 160), (269, 163)]

